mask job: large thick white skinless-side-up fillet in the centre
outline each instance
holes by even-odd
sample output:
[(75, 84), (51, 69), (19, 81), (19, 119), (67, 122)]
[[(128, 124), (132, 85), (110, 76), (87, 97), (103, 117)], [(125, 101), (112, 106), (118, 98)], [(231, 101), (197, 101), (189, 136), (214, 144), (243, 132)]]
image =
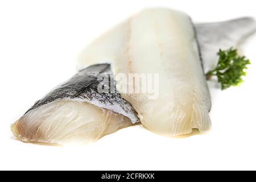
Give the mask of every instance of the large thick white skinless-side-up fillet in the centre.
[(82, 53), (80, 68), (112, 64), (118, 73), (158, 73), (159, 98), (121, 93), (150, 131), (189, 134), (210, 128), (210, 95), (188, 15), (147, 9), (94, 41)]

